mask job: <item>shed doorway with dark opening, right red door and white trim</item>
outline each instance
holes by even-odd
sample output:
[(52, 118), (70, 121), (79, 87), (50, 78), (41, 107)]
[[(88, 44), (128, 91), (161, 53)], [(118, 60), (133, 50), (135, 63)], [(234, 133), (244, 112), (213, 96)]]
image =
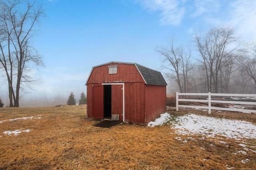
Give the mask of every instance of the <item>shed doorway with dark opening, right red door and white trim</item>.
[(104, 119), (124, 119), (124, 84), (111, 83), (104, 86)]

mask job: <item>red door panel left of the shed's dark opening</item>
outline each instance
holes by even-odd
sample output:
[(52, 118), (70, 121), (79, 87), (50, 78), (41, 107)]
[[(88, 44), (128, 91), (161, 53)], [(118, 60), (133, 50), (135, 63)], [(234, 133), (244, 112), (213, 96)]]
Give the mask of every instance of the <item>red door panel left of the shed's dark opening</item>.
[(103, 86), (93, 86), (93, 103), (92, 103), (92, 116), (93, 119), (103, 119)]

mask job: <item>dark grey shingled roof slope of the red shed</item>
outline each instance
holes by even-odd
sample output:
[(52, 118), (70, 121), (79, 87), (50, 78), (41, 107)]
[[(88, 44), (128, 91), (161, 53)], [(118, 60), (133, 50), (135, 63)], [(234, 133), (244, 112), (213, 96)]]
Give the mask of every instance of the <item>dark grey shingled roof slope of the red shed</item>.
[(142, 66), (137, 63), (134, 63), (134, 64), (138, 68), (138, 70), (139, 70), (140, 74), (142, 75), (143, 79), (145, 80), (146, 84), (160, 85), (160, 86), (167, 85), (161, 72), (147, 68), (147, 67)]

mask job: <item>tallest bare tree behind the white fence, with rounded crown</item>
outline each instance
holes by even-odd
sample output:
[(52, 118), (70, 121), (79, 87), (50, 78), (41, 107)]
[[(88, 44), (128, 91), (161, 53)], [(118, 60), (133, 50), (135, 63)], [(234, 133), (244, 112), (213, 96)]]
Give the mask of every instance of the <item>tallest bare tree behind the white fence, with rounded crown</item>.
[(214, 90), (218, 93), (220, 71), (225, 63), (225, 57), (230, 56), (238, 47), (234, 45), (238, 41), (234, 36), (234, 29), (214, 27), (206, 35), (196, 35), (194, 41), (200, 53), (201, 59), (198, 61), (205, 67), (208, 92)]

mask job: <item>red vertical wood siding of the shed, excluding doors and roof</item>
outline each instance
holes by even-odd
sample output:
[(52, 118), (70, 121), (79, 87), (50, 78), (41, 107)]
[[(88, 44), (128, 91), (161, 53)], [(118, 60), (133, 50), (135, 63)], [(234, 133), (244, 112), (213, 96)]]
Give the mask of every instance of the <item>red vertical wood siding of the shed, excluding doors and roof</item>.
[[(108, 74), (108, 66), (118, 65), (117, 74)], [(87, 80), (87, 115), (93, 117), (92, 85), (124, 83), (125, 121), (147, 125), (166, 111), (166, 86), (145, 84), (134, 64), (110, 63), (93, 68)]]

